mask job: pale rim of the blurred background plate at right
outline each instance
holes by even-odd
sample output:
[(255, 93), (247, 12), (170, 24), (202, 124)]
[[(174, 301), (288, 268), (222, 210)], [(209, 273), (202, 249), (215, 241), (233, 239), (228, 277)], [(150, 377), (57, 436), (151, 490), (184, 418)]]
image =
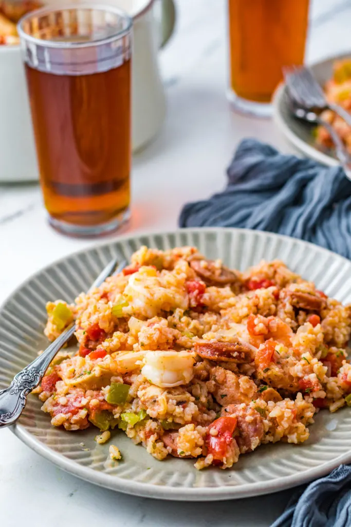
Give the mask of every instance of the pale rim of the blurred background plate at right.
[[(351, 52), (345, 51), (337, 55), (328, 55), (327, 57), (323, 58), (323, 60), (313, 62), (312, 64), (308, 64), (308, 66), (313, 70), (315, 67), (318, 67), (324, 63), (343, 60), (343, 58), (350, 57)], [(318, 161), (327, 167), (338, 167), (340, 163), (337, 159), (325, 152), (322, 152), (321, 150), (318, 150), (315, 146), (306, 143), (306, 141), (300, 139), (300, 137), (292, 129), (290, 129), (283, 115), (279, 111), (279, 104), (282, 101), (285, 92), (286, 84), (284, 81), (282, 81), (276, 87), (272, 97), (273, 121), (276, 123), (279, 130), (284, 134), (289, 143), (293, 144), (294, 147), (306, 157), (313, 159), (314, 161)]]

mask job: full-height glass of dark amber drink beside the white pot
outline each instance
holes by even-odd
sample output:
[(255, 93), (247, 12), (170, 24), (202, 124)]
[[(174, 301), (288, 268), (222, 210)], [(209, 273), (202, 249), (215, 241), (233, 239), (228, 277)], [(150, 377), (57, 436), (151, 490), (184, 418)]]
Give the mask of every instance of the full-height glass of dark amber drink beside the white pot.
[(115, 230), (129, 217), (131, 18), (44, 7), (18, 32), (49, 222), (73, 236)]

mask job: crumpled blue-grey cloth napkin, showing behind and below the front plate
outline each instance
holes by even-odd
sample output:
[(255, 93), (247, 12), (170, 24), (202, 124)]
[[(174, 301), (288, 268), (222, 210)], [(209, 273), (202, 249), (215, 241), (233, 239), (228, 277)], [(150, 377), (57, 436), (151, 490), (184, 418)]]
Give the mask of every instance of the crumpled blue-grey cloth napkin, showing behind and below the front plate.
[[(188, 203), (180, 227), (245, 227), (317, 243), (351, 258), (351, 181), (340, 167), (283, 155), (245, 139), (227, 169), (228, 184)], [(340, 465), (295, 495), (272, 527), (351, 527), (351, 467)]]

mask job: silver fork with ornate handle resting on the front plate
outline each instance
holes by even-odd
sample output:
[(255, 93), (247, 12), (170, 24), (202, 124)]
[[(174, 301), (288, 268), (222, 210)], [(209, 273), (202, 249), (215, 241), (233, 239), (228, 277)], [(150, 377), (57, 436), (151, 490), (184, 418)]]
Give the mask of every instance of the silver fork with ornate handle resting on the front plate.
[[(116, 265), (117, 260), (111, 260), (96, 278), (89, 291), (95, 287), (101, 286), (106, 278), (112, 274)], [(127, 262), (123, 260), (115, 270), (114, 274), (121, 272), (126, 265)], [(74, 331), (75, 323), (73, 322), (46, 348), (45, 352), (36, 357), (31, 364), (28, 364), (28, 366), (23, 368), (22, 372), (19, 372), (14, 376), (12, 383), (8, 388), (0, 391), (0, 428), (12, 425), (18, 419), (27, 403), (27, 395), (41, 382), (56, 353), (59, 352), (62, 346), (72, 337)]]

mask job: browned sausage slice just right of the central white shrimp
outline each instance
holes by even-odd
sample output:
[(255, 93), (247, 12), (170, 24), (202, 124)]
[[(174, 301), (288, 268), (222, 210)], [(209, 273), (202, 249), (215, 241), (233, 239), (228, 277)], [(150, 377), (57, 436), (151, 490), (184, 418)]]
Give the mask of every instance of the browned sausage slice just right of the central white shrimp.
[(249, 363), (254, 359), (253, 348), (245, 342), (210, 342), (195, 343), (195, 352), (203, 359), (217, 362)]

